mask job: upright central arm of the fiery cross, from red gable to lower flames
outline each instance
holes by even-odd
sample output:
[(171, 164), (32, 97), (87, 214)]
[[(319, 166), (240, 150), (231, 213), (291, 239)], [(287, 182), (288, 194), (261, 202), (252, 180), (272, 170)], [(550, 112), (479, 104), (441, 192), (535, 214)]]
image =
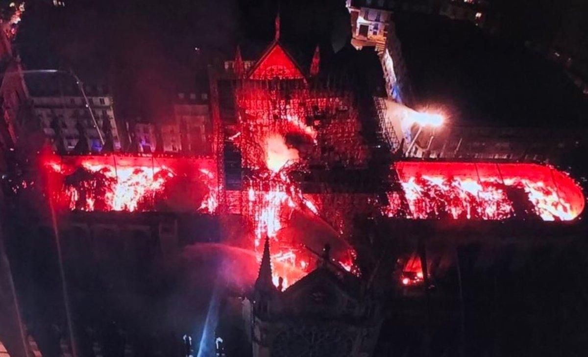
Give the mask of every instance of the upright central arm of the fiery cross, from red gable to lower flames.
[[(239, 58), (235, 63), (241, 66)], [(294, 169), (304, 172), (312, 164), (365, 166), (369, 149), (360, 134), (352, 92), (309, 82), (279, 42), (270, 45), (249, 75), (240, 67), (236, 74), (239, 127), (230, 140), (239, 148), (248, 172), (239, 196), (242, 203), (237, 203), (240, 209), (233, 212), (248, 219), (259, 261), (261, 242), (267, 236), (274, 283), (278, 285), (281, 276), (287, 288), (314, 268), (316, 252), (326, 243), (325, 236), (320, 238), (323, 242), (305, 241), (312, 236), (307, 225), (328, 226), (329, 239), (338, 242), (335, 263), (357, 272), (353, 249), (320, 216), (320, 202), (303, 196), (299, 182), (290, 178)], [(330, 149), (321, 148), (319, 142)], [(235, 205), (228, 202), (228, 206)]]

